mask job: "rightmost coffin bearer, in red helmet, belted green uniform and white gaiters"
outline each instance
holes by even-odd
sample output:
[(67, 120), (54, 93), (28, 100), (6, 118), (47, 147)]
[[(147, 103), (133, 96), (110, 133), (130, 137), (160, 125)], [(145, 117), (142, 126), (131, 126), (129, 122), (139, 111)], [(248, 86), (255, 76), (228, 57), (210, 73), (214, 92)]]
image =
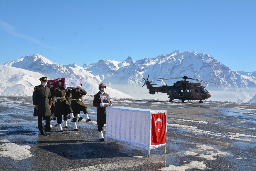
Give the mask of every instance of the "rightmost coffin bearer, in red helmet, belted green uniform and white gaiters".
[(83, 111), (84, 115), (86, 116), (86, 122), (90, 122), (91, 119), (89, 118), (88, 111), (87, 111), (87, 106), (82, 102), (83, 95), (86, 95), (87, 92), (82, 89), (82, 82), (80, 83), (80, 86), (77, 86), (76, 89), (72, 89), (71, 94), (72, 94), (72, 102), (71, 106), (74, 112), (74, 116), (78, 118), (78, 122), (80, 122), (83, 117), (80, 117), (80, 111)]

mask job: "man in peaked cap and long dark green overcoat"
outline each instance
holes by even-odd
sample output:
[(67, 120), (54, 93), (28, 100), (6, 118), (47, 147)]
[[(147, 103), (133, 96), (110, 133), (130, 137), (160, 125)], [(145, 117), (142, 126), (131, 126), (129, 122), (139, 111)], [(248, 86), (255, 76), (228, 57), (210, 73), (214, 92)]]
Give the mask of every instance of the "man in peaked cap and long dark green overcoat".
[(46, 86), (47, 77), (42, 77), (39, 81), (41, 81), (41, 84), (34, 87), (33, 92), (33, 105), (35, 105), (34, 116), (37, 116), (39, 134), (44, 135), (42, 123), (43, 117), (45, 118), (45, 132), (51, 132), (51, 92)]

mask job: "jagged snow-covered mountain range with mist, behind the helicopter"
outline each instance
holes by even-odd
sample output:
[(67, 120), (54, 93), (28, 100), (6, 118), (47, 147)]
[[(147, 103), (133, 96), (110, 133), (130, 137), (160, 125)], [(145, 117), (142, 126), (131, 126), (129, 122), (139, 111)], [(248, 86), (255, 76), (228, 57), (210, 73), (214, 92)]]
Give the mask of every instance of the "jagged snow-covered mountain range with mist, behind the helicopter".
[[(130, 56), (123, 62), (111, 60), (99, 60), (97, 63), (61, 65), (49, 59), (33, 54), (21, 57), (4, 65), (21, 68), (28, 71), (42, 73), (50, 78), (77, 78), (84, 82), (84, 87), (91, 84), (105, 83), (108, 87), (129, 94), (135, 98), (168, 99), (164, 93), (157, 95), (147, 94), (148, 90), (141, 86), (147, 78), (182, 77), (223, 84), (205, 84), (207, 90), (212, 93), (209, 100), (239, 101), (252, 98), (256, 93), (255, 73), (233, 71), (223, 65), (212, 56), (197, 52), (179, 52), (175, 50), (170, 54), (160, 55), (155, 58), (143, 58), (133, 61)], [(163, 84), (173, 85), (177, 80), (165, 80), (153, 82), (159, 86)], [(195, 81), (193, 81), (195, 82)], [(86, 89), (85, 88), (85, 89)], [(227, 97), (228, 99), (227, 99)], [(162, 98), (161, 98), (162, 97)]]

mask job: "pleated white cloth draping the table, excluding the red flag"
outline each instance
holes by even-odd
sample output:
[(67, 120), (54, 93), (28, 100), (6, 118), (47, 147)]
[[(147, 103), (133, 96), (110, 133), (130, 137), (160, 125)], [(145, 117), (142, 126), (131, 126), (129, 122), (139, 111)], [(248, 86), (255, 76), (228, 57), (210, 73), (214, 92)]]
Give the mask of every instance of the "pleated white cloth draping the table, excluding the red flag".
[(166, 143), (151, 145), (152, 113), (166, 113), (167, 116), (167, 111), (128, 108), (121, 106), (106, 107), (105, 137), (120, 142), (130, 143), (146, 150), (166, 145)]

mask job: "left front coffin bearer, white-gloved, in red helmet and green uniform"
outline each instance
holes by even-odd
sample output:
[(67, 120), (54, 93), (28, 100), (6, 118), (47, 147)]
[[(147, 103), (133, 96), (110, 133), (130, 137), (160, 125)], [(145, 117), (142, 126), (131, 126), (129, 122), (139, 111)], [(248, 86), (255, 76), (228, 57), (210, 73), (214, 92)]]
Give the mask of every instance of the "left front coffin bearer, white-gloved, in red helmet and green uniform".
[(67, 84), (65, 84), (63, 87), (61, 86), (62, 80), (60, 78), (56, 79), (57, 86), (54, 89), (55, 95), (56, 95), (56, 103), (55, 103), (55, 113), (57, 112), (57, 123), (59, 127), (59, 132), (63, 132), (61, 127), (62, 122), (62, 115), (65, 112), (65, 110), (70, 113), (71, 122), (77, 122), (77, 118), (74, 117), (73, 111), (71, 108), (70, 103), (66, 100), (66, 92), (67, 90)]

